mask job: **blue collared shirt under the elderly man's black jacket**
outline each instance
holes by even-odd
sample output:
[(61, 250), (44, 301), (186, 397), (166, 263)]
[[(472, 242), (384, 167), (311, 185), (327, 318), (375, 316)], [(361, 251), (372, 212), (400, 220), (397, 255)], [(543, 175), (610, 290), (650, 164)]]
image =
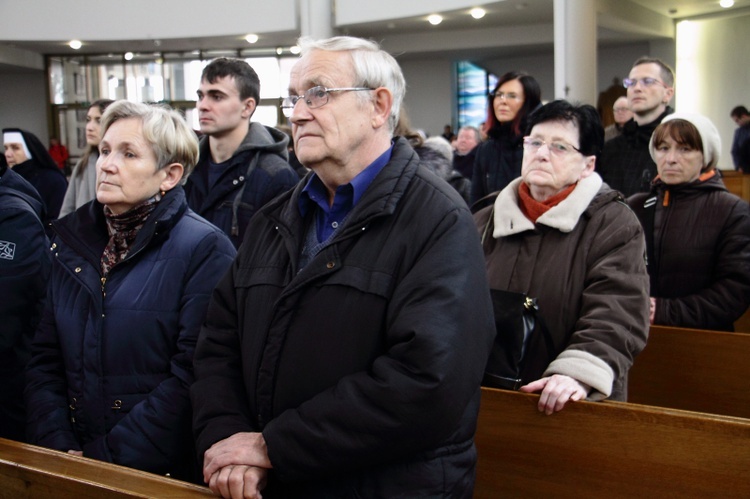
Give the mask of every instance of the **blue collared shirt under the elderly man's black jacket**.
[[(344, 219), (357, 204), (380, 170), (388, 164), (393, 152), (393, 144), (375, 161), (359, 172), (348, 184), (336, 188), (333, 204), (328, 204), (328, 190), (320, 178), (313, 174), (297, 200), (299, 212), (304, 218), (311, 209), (315, 210), (315, 228), (318, 242), (329, 237), (344, 222)], [(314, 204), (313, 204), (314, 203)]]

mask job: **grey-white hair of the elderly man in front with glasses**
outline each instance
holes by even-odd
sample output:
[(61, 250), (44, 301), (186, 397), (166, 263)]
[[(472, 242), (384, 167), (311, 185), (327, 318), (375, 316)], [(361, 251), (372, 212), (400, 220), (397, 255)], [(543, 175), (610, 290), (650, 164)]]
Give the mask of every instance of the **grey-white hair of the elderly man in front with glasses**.
[[(398, 123), (401, 103), (406, 93), (406, 81), (401, 67), (388, 52), (372, 40), (352, 36), (334, 36), (324, 40), (302, 37), (297, 41), (302, 56), (313, 50), (328, 52), (349, 52), (354, 67), (355, 87), (387, 88), (393, 95), (391, 116), (388, 120), (389, 131), (393, 133)], [(367, 92), (358, 92), (366, 98)]]

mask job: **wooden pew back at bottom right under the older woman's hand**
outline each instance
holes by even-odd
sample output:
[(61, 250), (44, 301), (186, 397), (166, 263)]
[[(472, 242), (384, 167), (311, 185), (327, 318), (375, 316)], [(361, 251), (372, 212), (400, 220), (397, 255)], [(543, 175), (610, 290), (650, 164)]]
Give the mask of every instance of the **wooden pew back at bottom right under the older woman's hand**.
[(475, 499), (750, 497), (750, 421), (482, 389)]

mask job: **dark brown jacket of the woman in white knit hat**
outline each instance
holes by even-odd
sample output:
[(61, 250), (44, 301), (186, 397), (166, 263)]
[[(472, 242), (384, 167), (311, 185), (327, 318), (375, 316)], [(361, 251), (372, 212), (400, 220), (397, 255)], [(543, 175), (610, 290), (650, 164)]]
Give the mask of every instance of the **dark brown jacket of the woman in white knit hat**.
[(653, 228), (646, 242), (654, 324), (733, 331), (750, 305), (747, 202), (709, 173), (683, 185), (657, 179), (628, 203)]

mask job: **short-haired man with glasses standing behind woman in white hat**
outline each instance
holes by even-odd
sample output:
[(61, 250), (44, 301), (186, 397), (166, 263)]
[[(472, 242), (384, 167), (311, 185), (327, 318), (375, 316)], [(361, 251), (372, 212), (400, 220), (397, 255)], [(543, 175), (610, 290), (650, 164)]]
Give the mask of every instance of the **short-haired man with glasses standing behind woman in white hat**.
[(656, 164), (648, 150), (651, 134), (665, 116), (674, 112), (674, 72), (653, 57), (641, 57), (623, 80), (633, 118), (619, 137), (605, 142), (596, 170), (602, 179), (625, 197), (646, 192), (656, 177)]

